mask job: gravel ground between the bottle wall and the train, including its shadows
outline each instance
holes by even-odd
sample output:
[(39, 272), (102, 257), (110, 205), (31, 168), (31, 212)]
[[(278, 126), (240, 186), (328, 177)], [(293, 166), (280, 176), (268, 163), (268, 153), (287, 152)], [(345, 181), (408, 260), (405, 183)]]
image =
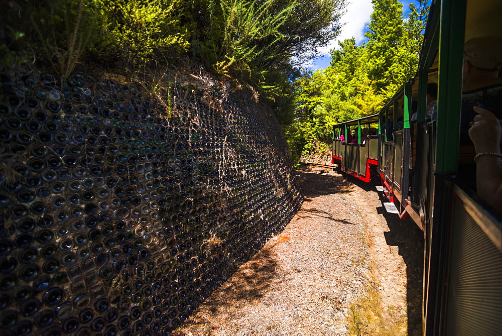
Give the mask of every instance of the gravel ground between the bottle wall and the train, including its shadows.
[(374, 183), (297, 178), (301, 210), (174, 334), (421, 334), (422, 232)]

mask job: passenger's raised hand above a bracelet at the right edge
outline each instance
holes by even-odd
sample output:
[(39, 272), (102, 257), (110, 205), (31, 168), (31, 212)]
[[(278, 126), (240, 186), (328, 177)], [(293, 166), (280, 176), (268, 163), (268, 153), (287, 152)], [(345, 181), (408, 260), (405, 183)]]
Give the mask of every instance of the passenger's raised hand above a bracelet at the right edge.
[(469, 137), (474, 143), (476, 153), (500, 152), (500, 137), (502, 136), (502, 126), (500, 121), (488, 110), (474, 106), (474, 111), (478, 114), (471, 122)]

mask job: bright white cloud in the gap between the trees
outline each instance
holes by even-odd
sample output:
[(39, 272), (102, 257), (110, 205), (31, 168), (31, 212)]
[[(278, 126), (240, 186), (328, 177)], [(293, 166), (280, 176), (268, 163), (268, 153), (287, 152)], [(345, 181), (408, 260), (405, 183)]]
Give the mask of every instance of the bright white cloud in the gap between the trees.
[(338, 41), (351, 37), (355, 38), (356, 43), (364, 40), (364, 27), (369, 23), (371, 13), (373, 13), (371, 0), (352, 0), (352, 3), (347, 5), (346, 13), (340, 19), (341, 23), (345, 23), (340, 36), (336, 40), (331, 40), (327, 46), (319, 48), (319, 52), (327, 55), (330, 49), (339, 48)]

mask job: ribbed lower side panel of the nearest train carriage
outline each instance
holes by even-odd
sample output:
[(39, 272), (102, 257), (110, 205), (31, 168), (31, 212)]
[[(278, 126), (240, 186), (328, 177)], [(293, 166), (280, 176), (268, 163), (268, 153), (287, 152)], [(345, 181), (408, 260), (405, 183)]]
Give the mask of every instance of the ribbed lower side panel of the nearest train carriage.
[(495, 335), (502, 327), (502, 253), (454, 199), (446, 333)]

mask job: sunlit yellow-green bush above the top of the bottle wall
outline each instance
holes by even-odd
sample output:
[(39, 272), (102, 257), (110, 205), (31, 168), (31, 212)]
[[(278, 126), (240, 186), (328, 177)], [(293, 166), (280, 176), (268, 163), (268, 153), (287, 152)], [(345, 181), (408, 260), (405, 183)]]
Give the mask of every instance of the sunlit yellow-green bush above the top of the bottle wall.
[(128, 66), (184, 52), (189, 42), (187, 28), (180, 24), (182, 6), (182, 0), (99, 0), (100, 34), (89, 51)]

